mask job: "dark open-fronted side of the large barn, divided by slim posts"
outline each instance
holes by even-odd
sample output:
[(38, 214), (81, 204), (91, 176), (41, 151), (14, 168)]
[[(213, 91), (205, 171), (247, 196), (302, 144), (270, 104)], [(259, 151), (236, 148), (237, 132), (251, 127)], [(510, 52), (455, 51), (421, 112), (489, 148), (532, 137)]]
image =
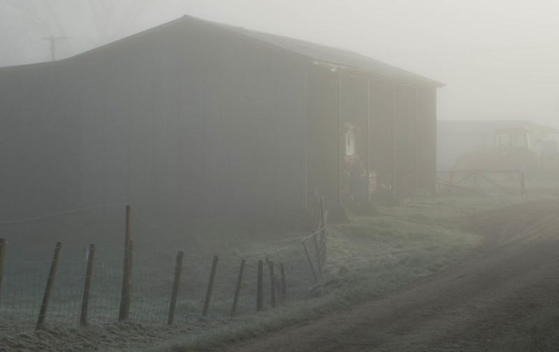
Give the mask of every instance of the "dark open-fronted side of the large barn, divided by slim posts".
[(436, 85), (317, 64), (309, 87), (308, 184), (331, 205), (435, 191)]

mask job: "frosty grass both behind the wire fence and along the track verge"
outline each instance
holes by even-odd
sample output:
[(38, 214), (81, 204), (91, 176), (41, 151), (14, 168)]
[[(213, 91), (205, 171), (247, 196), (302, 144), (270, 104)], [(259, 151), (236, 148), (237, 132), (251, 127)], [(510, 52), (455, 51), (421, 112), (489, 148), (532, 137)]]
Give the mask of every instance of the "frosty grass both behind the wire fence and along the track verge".
[[(136, 291), (133, 293), (135, 301), (131, 307), (132, 325), (115, 325), (115, 329), (122, 329), (123, 336), (127, 332), (133, 334), (136, 330), (141, 330), (143, 335), (151, 331), (154, 340), (158, 340), (158, 334), (164, 336), (155, 344), (141, 344), (143, 351), (157, 352), (205, 349), (278, 330), (286, 325), (351, 307), (356, 302), (386, 295), (416, 279), (462, 261), (482, 244), (479, 235), (460, 230), (460, 223), (465, 221), (467, 214), (542, 197), (545, 196), (418, 198), (414, 203), (402, 207), (375, 207), (367, 214), (349, 214), (349, 221), (331, 223), (328, 226), (327, 261), (324, 277), (319, 284), (314, 283), (303, 247), (298, 242), (308, 231), (293, 231), (298, 223), (290, 227), (270, 228), (266, 223), (215, 222), (206, 219), (161, 228), (151, 226), (145, 219), (136, 216), (133, 225), (137, 261), (133, 280)], [(55, 286), (59, 291), (53, 297), (50, 307), (52, 315), (47, 323), (53, 323), (52, 326), (61, 324), (62, 327), (73, 327), (71, 330), (75, 330), (84, 270), (85, 254), (82, 249), (95, 238), (99, 246), (99, 262), (94, 268), (97, 280), (94, 283), (97, 282), (98, 291), (93, 296), (91, 316), (94, 324), (90, 329), (94, 332), (108, 324), (111, 330), (110, 324), (115, 323), (117, 316), (119, 284), (122, 280), (123, 223), (103, 224), (101, 227), (89, 225), (89, 228), (75, 226), (69, 229), (59, 225), (57, 221), (50, 221), (50, 227), (44, 225), (36, 223), (27, 230), (4, 232), (8, 235), (15, 234), (8, 239), (11, 246), (8, 247), (11, 256), (8, 259), (25, 264), (12, 274), (15, 277), (29, 275), (31, 280), (16, 280), (22, 287), (18, 289), (33, 287), (34, 292), (31, 297), (13, 295), (14, 299), (24, 302), (24, 309), (17, 311), (10, 305), (0, 305), (0, 316), (13, 316), (16, 322), (23, 319), (24, 323), (33, 328), (45, 274), (48, 272), (49, 257), (52, 256), (55, 241), (62, 240), (65, 244), (63, 256), (66, 267), (61, 267), (62, 277), (57, 279)], [(180, 228), (184, 230), (177, 230)], [(43, 231), (41, 241), (37, 240), (37, 236), (32, 237), (38, 229)], [(34, 247), (28, 248), (22, 244), (26, 240), (22, 233), (28, 239), (34, 238)], [(293, 246), (286, 247), (293, 243)], [(185, 251), (184, 281), (180, 291), (182, 295), (177, 305), (176, 326), (166, 328), (170, 286), (178, 250)], [(271, 309), (269, 299), (266, 298), (264, 312), (256, 314), (256, 261), (265, 258), (263, 254), (268, 254), (277, 263), (286, 263), (289, 300), (286, 306)], [(220, 274), (216, 281), (210, 315), (208, 318), (201, 318), (203, 295), (213, 255), (220, 257)], [(29, 256), (34, 260), (22, 260), (22, 257)], [(240, 302), (241, 314), (230, 318), (240, 258), (249, 258), (249, 269), (243, 286), (245, 294)], [(10, 269), (8, 265), (5, 270), (15, 269)], [(4, 280), (6, 283), (6, 277)], [(72, 284), (64, 285), (64, 280), (72, 280)], [(101, 282), (106, 282), (108, 286), (101, 285)], [(268, 292), (268, 279), (264, 280), (264, 284), (265, 291)], [(60, 290), (62, 287), (66, 288)], [(3, 290), (6, 292), (6, 285)], [(9, 299), (10, 295), (3, 295), (4, 303)], [(551, 316), (542, 317), (533, 323), (539, 328), (527, 328), (526, 343), (531, 343), (532, 337), (537, 339), (540, 332), (555, 326), (553, 324), (556, 321)], [(143, 327), (134, 325), (136, 323)], [(87, 330), (84, 334), (86, 332)], [(103, 335), (103, 332), (99, 333)], [(131, 346), (130, 351), (140, 350), (140, 344)], [(115, 351), (122, 349), (120, 345)]]

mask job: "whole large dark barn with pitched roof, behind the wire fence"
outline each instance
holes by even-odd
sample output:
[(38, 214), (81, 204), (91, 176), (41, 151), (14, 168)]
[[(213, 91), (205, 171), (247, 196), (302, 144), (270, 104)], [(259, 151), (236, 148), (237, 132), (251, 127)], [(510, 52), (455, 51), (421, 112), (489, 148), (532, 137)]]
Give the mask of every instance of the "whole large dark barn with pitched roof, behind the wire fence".
[(182, 17), (0, 69), (0, 218), (131, 203), (152, 217), (296, 212), (435, 189), (440, 83)]

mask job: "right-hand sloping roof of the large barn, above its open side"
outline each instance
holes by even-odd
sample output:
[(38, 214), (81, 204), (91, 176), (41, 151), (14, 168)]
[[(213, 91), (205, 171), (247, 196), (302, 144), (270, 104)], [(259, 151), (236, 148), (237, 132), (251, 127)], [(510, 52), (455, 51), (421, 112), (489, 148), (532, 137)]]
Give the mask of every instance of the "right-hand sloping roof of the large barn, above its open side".
[(385, 64), (382, 61), (372, 59), (370, 57), (352, 52), (350, 50), (343, 50), (335, 47), (329, 47), (327, 45), (302, 41), (296, 38), (278, 36), (276, 34), (263, 33), (261, 31), (253, 31), (244, 29), (242, 27), (234, 27), (227, 24), (210, 22), (187, 15), (182, 17), (182, 19), (180, 20), (205, 22), (206, 24), (219, 27), (226, 31), (233, 31), (235, 33), (241, 34), (242, 36), (253, 38), (256, 41), (261, 41), (263, 43), (275, 45), (276, 47), (281, 47), (284, 50), (295, 52), (296, 54), (303, 55), (308, 59), (322, 61), (324, 63), (333, 65), (344, 66), (346, 68), (354, 68), (357, 71), (368, 73), (370, 75), (377, 75), (382, 78), (405, 80), (408, 82), (419, 83), (423, 85), (435, 85), (437, 87), (442, 87), (444, 85), (441, 82), (430, 80), (429, 78), (425, 78), (421, 75), (416, 75), (415, 73), (403, 70), (402, 68), (398, 68), (390, 64)]

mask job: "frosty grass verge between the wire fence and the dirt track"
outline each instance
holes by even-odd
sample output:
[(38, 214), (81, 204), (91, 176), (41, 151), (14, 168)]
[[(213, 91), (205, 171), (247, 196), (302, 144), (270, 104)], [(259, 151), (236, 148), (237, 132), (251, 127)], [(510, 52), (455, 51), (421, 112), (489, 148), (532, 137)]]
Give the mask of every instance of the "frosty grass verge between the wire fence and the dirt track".
[(404, 207), (350, 214), (328, 228), (324, 279), (309, 300), (266, 314), (206, 323), (188, 336), (145, 351), (191, 351), (220, 346), (374, 299), (457, 263), (481, 247), (481, 237), (460, 231), (466, 214), (539, 199), (525, 197), (421, 198)]

